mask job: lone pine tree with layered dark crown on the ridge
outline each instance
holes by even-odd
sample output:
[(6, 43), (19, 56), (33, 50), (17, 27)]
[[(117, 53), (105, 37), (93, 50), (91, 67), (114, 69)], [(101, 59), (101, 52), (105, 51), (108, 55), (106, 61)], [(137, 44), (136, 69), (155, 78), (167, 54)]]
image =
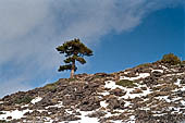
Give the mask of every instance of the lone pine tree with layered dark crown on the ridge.
[(57, 50), (60, 53), (64, 53), (66, 57), (64, 61), (65, 65), (61, 65), (59, 67), (59, 72), (71, 70), (71, 78), (74, 77), (74, 72), (77, 70), (76, 67), (76, 61), (78, 61), (82, 64), (86, 63), (86, 60), (84, 59), (85, 56), (90, 57), (92, 56), (92, 51), (87, 48), (83, 42), (81, 42), (79, 39), (73, 39), (70, 41), (65, 41), (62, 46), (59, 46)]

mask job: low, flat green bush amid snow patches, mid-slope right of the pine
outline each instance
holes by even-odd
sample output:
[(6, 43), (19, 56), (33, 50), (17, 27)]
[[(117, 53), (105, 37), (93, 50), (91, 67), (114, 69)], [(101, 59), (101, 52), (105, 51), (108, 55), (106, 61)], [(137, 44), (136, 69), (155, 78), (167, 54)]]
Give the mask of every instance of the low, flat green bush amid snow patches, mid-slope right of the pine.
[(116, 85), (123, 86), (123, 87), (136, 87), (137, 85), (135, 84), (135, 82), (133, 81), (128, 81), (128, 79), (121, 79), (119, 82), (115, 83)]

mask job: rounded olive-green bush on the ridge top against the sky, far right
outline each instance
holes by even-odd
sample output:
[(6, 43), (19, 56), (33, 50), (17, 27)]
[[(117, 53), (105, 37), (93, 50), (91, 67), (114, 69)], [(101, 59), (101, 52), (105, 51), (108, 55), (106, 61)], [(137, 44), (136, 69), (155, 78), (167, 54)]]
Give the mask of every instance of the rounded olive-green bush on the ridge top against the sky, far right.
[(173, 53), (164, 54), (162, 60), (162, 63), (168, 63), (171, 65), (176, 65), (181, 63), (181, 60), (178, 57), (174, 56)]

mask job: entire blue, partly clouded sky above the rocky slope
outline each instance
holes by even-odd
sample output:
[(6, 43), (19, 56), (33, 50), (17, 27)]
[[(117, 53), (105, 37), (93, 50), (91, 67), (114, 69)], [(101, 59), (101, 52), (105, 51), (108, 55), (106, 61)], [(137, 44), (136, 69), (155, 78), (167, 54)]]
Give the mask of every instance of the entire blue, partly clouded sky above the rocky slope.
[(94, 51), (76, 74), (185, 60), (184, 0), (0, 0), (0, 97), (69, 77), (55, 48), (74, 38)]

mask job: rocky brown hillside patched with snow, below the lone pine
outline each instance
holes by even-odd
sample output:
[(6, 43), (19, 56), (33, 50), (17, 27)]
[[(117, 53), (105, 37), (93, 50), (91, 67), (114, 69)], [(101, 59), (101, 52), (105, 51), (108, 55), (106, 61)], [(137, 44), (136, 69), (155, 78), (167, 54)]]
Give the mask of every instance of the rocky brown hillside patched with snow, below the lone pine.
[(185, 65), (79, 74), (0, 99), (0, 123), (183, 123)]

